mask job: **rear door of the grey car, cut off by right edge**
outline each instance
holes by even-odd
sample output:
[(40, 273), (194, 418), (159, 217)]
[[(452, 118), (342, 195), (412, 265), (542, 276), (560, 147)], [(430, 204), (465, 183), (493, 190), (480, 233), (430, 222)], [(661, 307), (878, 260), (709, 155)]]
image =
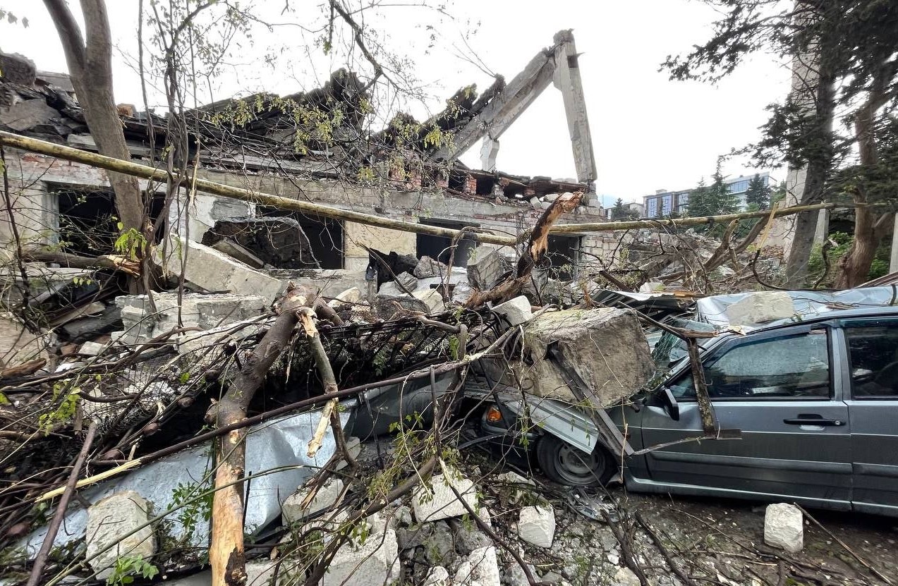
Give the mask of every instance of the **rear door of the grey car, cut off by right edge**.
[(851, 502), (863, 512), (898, 515), (898, 318), (849, 319)]

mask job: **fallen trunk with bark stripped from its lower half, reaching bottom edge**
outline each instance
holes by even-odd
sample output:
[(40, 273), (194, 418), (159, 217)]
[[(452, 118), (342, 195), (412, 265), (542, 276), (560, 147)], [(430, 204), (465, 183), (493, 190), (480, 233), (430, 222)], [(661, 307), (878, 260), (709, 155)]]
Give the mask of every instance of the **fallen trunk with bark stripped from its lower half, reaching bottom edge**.
[[(227, 389), (225, 397), (209, 408), (208, 423), (219, 427), (246, 418), (256, 390), (271, 365), (293, 336), (299, 310), (314, 302), (315, 293), (305, 287), (287, 290), (281, 313)], [(218, 438), (216, 446), (216, 493), (212, 501), (212, 543), (209, 564), (215, 586), (240, 586), (246, 582), (243, 552), (243, 477), (246, 461), (246, 428), (235, 429)]]

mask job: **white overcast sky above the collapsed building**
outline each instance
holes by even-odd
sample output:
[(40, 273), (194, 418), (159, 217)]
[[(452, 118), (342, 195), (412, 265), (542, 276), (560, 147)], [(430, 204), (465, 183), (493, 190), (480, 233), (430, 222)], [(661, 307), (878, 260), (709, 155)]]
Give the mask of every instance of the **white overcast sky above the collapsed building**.
[[(277, 20), (285, 0), (249, 4), (267, 22), (287, 22)], [(309, 12), (291, 22), (321, 22), (315, 21), (322, 14), (321, 2), (301, 4), (299, 10)], [(418, 0), (382, 4), (358, 20), (376, 31), (383, 47), (408, 58), (401, 69), (411, 72), (426, 94), (424, 101), (406, 104), (418, 119), (442, 109), (462, 86), (477, 83), (485, 89), (492, 81), (490, 72), (510, 80), (537, 51), (550, 46), (556, 31), (573, 29), (598, 166), (596, 189), (606, 201), (641, 200), (657, 189), (689, 188), (708, 178), (719, 155), (759, 137), (765, 107), (788, 92), (788, 67), (776, 57), (753, 57), (717, 85), (674, 82), (659, 71), (667, 55), (709, 38), (716, 13), (698, 0), (454, 0), (447, 8), (451, 17), (409, 5)], [(107, 0), (107, 5), (116, 42), (116, 101), (143, 104), (135, 72), (137, 0)], [(21, 22), (0, 23), (0, 49), (31, 57), (40, 70), (66, 71), (42, 3), (0, 0), (0, 8), (29, 19), (27, 28)], [(334, 50), (325, 56), (314, 44), (320, 32), (310, 28), (315, 26), (277, 26), (273, 32), (257, 27), (252, 44), (237, 41), (215, 80), (215, 97), (263, 89), (286, 94), (319, 85), (345, 63), (345, 53)], [(343, 41), (341, 47), (351, 47), (348, 37)], [(266, 56), (273, 58), (266, 61)], [(158, 98), (151, 102), (162, 103)], [(556, 179), (576, 175), (561, 94), (551, 86), (500, 144), (500, 171)], [(462, 162), (480, 168), (480, 144), (462, 155)], [(766, 170), (732, 159), (723, 171), (738, 176)], [(775, 178), (777, 173), (783, 171), (774, 171)]]

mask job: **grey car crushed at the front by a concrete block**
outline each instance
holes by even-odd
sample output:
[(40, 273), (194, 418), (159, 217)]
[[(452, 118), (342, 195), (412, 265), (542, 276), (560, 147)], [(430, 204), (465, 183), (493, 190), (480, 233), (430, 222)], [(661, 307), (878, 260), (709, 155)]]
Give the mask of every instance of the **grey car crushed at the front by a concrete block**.
[(702, 363), (719, 428), (741, 439), (682, 442), (703, 435), (684, 358), (656, 389), (608, 410), (634, 450), (673, 445), (621, 458), (543, 428), (532, 438), (541, 468), (585, 485), (622, 464), (632, 491), (898, 516), (898, 307), (723, 334), (705, 343)]

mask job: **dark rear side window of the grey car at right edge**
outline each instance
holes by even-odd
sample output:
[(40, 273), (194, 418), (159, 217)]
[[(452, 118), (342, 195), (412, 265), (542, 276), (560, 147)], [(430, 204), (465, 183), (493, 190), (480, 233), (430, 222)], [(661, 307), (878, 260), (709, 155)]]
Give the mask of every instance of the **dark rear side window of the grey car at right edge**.
[(853, 398), (898, 398), (898, 319), (846, 325)]

